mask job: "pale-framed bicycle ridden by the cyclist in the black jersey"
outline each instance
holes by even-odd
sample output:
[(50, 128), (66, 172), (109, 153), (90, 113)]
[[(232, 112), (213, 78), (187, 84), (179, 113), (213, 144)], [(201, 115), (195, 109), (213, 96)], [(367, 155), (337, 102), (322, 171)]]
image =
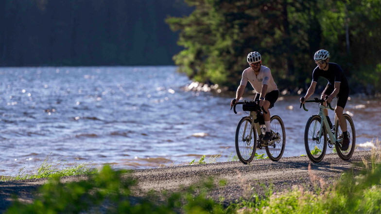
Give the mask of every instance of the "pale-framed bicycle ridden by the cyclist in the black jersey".
[[(343, 142), (343, 133), (339, 129), (339, 120), (335, 119), (335, 125), (330, 129), (328, 120), (324, 115), (324, 109), (334, 110), (330, 103), (324, 106), (323, 103), (326, 102), (324, 99), (314, 98), (312, 100), (306, 100), (306, 102), (315, 102), (319, 104), (319, 114), (312, 115), (306, 124), (306, 129), (304, 131), (304, 146), (307, 151), (308, 158), (315, 163), (323, 160), (327, 145), (329, 148), (335, 148), (339, 157), (343, 160), (349, 160), (354, 152), (356, 145), (356, 131), (352, 120), (352, 117), (348, 114), (343, 114), (346, 119), (347, 131), (349, 137), (349, 147), (347, 150), (341, 150), (341, 144)], [(300, 103), (300, 108), (302, 103)], [(308, 111), (303, 104), (303, 109)], [(327, 139), (327, 134), (329, 139)]]

